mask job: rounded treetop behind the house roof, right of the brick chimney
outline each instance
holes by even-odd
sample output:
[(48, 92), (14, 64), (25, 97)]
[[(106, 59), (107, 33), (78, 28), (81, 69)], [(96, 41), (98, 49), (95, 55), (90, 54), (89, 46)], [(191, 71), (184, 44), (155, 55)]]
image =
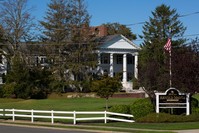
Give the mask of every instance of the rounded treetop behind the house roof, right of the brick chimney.
[(135, 40), (137, 38), (126, 25), (119, 23), (106, 23), (104, 25), (108, 28), (108, 35), (122, 34), (130, 40)]

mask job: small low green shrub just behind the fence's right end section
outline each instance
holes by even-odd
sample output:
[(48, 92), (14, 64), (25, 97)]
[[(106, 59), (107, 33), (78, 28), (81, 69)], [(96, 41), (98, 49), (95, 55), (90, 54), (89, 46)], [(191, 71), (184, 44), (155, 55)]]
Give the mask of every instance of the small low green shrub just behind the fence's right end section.
[(130, 114), (130, 106), (129, 105), (114, 105), (110, 108), (111, 112)]

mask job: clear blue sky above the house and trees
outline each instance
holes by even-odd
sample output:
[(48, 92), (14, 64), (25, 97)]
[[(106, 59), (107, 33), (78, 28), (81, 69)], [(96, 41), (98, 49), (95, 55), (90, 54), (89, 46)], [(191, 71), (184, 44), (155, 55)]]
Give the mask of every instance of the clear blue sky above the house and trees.
[[(28, 4), (34, 6), (33, 16), (42, 20), (47, 11), (50, 0), (29, 0)], [(151, 12), (161, 4), (176, 9), (180, 15), (199, 12), (199, 0), (85, 0), (91, 17), (91, 26), (103, 23), (136, 24), (148, 21)], [(199, 34), (199, 13), (180, 18), (187, 27), (185, 35)], [(135, 34), (142, 34), (140, 24), (130, 26)], [(198, 35), (199, 36), (199, 35)], [(197, 36), (191, 36), (195, 38)], [(140, 43), (139, 39), (135, 43)]]

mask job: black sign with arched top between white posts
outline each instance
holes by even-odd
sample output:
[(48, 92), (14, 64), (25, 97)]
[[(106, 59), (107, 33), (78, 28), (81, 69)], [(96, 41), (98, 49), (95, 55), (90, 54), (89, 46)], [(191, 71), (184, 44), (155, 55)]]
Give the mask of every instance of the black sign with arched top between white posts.
[(156, 113), (160, 108), (186, 108), (186, 115), (190, 114), (190, 93), (180, 93), (175, 88), (169, 88), (165, 93), (155, 93), (156, 95)]

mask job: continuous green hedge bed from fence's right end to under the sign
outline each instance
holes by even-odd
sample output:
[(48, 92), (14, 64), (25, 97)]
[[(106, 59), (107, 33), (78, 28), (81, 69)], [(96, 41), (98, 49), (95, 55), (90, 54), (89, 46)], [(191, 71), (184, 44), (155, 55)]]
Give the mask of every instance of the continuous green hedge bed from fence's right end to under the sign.
[[(136, 122), (145, 123), (163, 123), (163, 122), (195, 122), (199, 121), (198, 100), (191, 99), (192, 114), (186, 116), (185, 113), (181, 115), (171, 115), (169, 113), (155, 113), (154, 106), (149, 98), (138, 99), (130, 105), (114, 105), (110, 111), (124, 114), (132, 114)], [(168, 109), (169, 110), (169, 109)], [(165, 110), (162, 110), (165, 111)], [(178, 109), (174, 110), (176, 113)], [(166, 112), (166, 111), (165, 111)], [(186, 112), (186, 111), (184, 111)]]

